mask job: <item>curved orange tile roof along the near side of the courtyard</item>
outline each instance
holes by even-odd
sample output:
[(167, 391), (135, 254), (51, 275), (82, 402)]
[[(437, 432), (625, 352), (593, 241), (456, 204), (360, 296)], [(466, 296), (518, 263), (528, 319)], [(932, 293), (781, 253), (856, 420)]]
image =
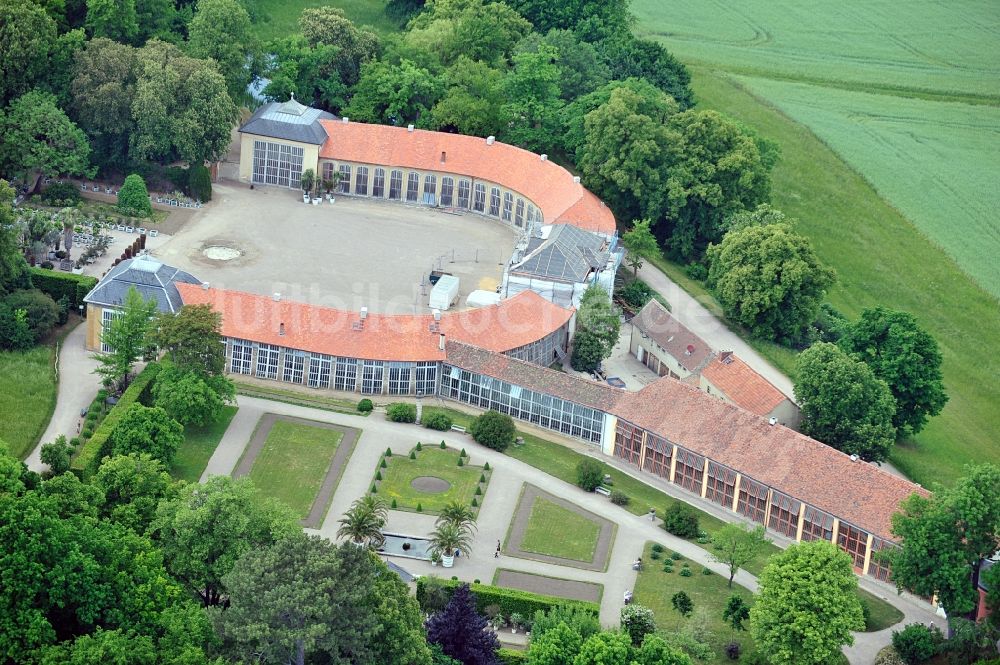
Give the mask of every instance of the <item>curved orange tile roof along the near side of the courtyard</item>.
[[(441, 360), (431, 314), (372, 314), (361, 329), (359, 312), (318, 307), (268, 296), (179, 284), (186, 305), (208, 304), (222, 313), (222, 334), (265, 344), (367, 360)], [(573, 316), (534, 291), (497, 305), (443, 312), (437, 328), (447, 339), (503, 352), (558, 330)], [(284, 334), (280, 329), (284, 324)]]

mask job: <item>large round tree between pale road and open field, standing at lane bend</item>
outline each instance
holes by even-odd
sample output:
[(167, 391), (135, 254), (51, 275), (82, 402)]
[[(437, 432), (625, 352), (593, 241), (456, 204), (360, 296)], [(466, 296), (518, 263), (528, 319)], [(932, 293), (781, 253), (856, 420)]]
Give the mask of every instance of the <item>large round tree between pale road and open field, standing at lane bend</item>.
[(787, 224), (747, 226), (708, 248), (708, 285), (726, 316), (755, 337), (798, 342), (836, 273)]

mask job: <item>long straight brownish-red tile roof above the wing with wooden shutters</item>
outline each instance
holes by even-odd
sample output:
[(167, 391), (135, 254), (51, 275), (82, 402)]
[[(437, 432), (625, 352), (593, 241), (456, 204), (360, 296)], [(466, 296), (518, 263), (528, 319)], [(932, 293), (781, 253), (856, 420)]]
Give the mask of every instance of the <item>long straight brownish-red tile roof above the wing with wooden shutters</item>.
[(621, 418), (811, 506), (892, 540), (890, 520), (919, 485), (664, 377), (621, 396)]

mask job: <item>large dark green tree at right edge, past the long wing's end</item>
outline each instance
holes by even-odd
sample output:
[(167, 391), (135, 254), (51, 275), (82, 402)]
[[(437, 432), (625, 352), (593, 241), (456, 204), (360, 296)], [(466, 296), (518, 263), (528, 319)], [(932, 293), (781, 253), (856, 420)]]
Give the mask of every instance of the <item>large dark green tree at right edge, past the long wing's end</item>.
[(893, 515), (892, 533), (901, 547), (883, 556), (896, 584), (937, 595), (949, 615), (973, 615), (980, 563), (1000, 542), (1000, 467), (971, 467), (952, 488), (912, 495)]

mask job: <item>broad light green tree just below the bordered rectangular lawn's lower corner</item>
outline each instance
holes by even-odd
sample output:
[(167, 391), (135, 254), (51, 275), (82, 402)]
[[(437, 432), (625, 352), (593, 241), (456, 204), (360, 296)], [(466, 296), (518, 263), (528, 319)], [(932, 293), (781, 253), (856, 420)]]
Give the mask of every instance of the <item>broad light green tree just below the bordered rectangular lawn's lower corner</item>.
[(246, 552), (300, 533), (291, 511), (247, 480), (215, 476), (160, 504), (151, 533), (167, 569), (207, 606), (226, 597), (222, 578)]

